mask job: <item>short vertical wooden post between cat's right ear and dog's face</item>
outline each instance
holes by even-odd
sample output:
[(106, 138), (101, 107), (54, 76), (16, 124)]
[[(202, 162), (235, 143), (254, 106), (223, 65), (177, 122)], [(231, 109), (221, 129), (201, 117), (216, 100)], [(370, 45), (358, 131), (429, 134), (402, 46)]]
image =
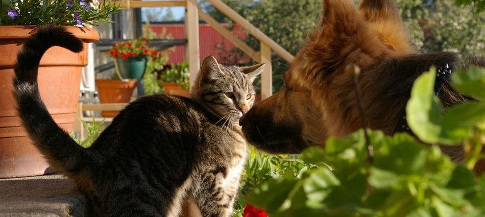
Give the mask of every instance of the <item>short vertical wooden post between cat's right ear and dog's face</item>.
[(261, 73), (261, 99), (271, 97), (273, 95), (273, 72), (271, 67), (271, 48), (264, 42), (261, 44), (261, 63), (266, 63), (264, 65), (264, 70)]

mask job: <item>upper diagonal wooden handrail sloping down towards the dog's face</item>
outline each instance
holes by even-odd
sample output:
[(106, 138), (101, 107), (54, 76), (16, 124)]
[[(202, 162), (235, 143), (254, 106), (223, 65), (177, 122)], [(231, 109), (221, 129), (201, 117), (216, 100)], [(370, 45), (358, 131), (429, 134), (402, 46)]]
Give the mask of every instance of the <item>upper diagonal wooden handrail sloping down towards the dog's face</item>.
[(268, 44), (268, 46), (270, 46), (271, 49), (275, 51), (275, 53), (278, 54), (281, 58), (286, 60), (286, 62), (288, 63), (293, 62), (293, 59), (295, 59), (295, 57), (292, 54), (287, 52), (278, 43), (273, 41), (273, 39), (265, 35), (263, 32), (261, 32), (261, 30), (259, 30), (254, 25), (252, 25), (248, 20), (246, 20), (244, 17), (236, 13), (229, 6), (221, 2), (221, 0), (207, 0), (207, 1), (210, 2), (215, 8), (219, 9), (223, 14), (225, 14), (226, 16), (234, 20), (236, 23), (241, 25), (241, 27), (246, 29), (255, 38), (264, 42), (265, 44)]

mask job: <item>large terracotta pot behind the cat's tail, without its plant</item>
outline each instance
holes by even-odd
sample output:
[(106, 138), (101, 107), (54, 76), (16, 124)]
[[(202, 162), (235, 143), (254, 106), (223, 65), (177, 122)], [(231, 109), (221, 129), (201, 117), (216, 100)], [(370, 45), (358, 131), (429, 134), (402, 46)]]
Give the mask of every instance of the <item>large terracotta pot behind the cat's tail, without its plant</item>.
[[(20, 124), (13, 99), (13, 64), (23, 41), (36, 26), (0, 26), (0, 178), (42, 175), (48, 164)], [(82, 67), (88, 63), (88, 42), (99, 40), (88, 28), (66, 27), (81, 38), (84, 51), (61, 47), (47, 50), (39, 66), (39, 91), (55, 122), (67, 132), (76, 118)]]

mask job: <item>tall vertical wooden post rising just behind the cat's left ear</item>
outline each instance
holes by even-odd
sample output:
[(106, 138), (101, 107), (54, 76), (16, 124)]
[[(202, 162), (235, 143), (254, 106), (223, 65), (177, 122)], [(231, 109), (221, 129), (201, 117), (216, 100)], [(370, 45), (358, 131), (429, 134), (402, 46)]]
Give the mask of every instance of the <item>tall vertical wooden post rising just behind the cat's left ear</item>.
[(199, 53), (199, 9), (197, 0), (187, 0), (185, 33), (187, 34), (186, 57), (188, 60), (190, 90), (196, 81), (200, 67)]

